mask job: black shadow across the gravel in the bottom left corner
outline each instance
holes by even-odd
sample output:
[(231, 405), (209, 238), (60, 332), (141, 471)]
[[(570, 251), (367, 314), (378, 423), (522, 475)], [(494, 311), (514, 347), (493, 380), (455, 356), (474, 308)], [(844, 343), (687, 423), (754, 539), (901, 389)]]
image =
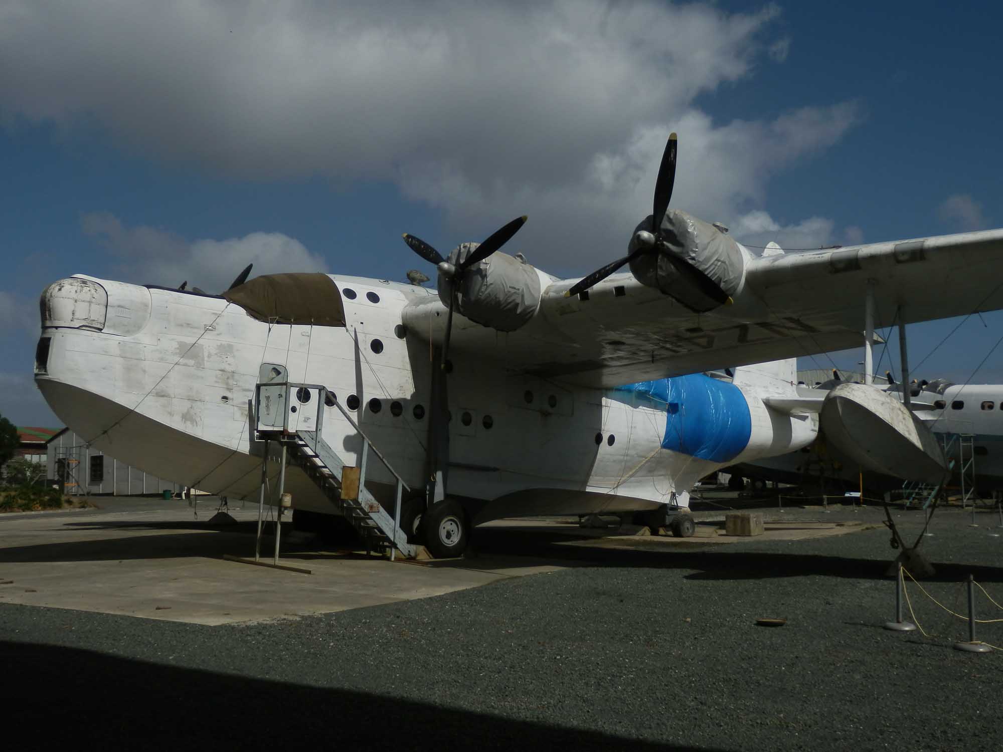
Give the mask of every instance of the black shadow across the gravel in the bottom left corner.
[(0, 641), (0, 665), (33, 749), (692, 749), (76, 648)]

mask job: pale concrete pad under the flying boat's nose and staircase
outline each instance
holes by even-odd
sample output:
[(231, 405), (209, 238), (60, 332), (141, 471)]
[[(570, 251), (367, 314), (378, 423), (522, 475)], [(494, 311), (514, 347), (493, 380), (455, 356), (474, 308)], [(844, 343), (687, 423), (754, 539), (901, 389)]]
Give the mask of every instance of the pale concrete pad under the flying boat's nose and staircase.
[[(184, 508), (0, 517), (0, 603), (220, 625), (427, 598), (504, 578), (560, 569), (513, 556), (391, 563), (381, 556), (304, 549), (280, 562), (302, 575), (224, 560), (254, 555), (257, 511), (209, 526)], [(263, 540), (271, 560), (274, 538)]]

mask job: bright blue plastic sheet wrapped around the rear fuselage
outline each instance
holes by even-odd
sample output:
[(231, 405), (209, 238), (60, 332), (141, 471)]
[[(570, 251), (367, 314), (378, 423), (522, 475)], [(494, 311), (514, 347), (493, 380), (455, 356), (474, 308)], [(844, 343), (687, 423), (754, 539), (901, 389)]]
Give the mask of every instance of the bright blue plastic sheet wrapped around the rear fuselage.
[(734, 384), (703, 374), (618, 386), (635, 402), (666, 411), (662, 448), (714, 462), (728, 462), (748, 445), (752, 416)]

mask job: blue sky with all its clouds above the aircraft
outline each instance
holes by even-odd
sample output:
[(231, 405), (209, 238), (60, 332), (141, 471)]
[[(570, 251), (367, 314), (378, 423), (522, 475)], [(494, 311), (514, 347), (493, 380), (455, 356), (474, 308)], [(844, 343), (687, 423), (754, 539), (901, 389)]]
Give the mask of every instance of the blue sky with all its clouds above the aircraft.
[[(748, 243), (1003, 224), (993, 6), (136, 7), (0, 3), (0, 414), (19, 424), (58, 423), (30, 375), (48, 282), (215, 289), (248, 260), (403, 279), (421, 262), (401, 232), (449, 248), (524, 213), (518, 250), (582, 275), (650, 211), (673, 128), (673, 204)], [(1001, 323), (973, 317), (921, 375), (966, 380)], [(913, 327), (914, 363), (956, 324)], [(974, 380), (1003, 381), (1003, 348)]]

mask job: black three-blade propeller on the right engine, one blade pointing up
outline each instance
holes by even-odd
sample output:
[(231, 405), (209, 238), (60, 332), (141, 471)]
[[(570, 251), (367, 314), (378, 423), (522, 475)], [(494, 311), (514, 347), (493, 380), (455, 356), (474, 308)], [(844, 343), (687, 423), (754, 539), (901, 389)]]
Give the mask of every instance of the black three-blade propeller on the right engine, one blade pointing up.
[[(669, 134), (669, 141), (665, 144), (665, 151), (662, 153), (662, 163), (658, 167), (658, 177), (655, 180), (655, 198), (652, 207), (651, 225), (652, 232), (644, 230), (638, 231), (635, 239), (637, 248), (622, 259), (607, 264), (605, 267), (597, 269), (588, 277), (584, 277), (575, 283), (566, 293), (565, 297), (579, 295), (594, 285), (602, 282), (611, 274), (630, 264), (644, 254), (658, 253), (663, 245), (662, 221), (665, 213), (669, 210), (669, 201), (672, 199), (672, 189), (676, 182), (676, 151), (678, 141), (675, 133)], [(731, 303), (729, 296), (721, 286), (714, 280), (694, 267), (689, 262), (679, 258), (673, 253), (666, 253), (664, 258), (675, 267), (680, 277), (687, 280), (694, 287), (716, 303), (726, 305)]]

